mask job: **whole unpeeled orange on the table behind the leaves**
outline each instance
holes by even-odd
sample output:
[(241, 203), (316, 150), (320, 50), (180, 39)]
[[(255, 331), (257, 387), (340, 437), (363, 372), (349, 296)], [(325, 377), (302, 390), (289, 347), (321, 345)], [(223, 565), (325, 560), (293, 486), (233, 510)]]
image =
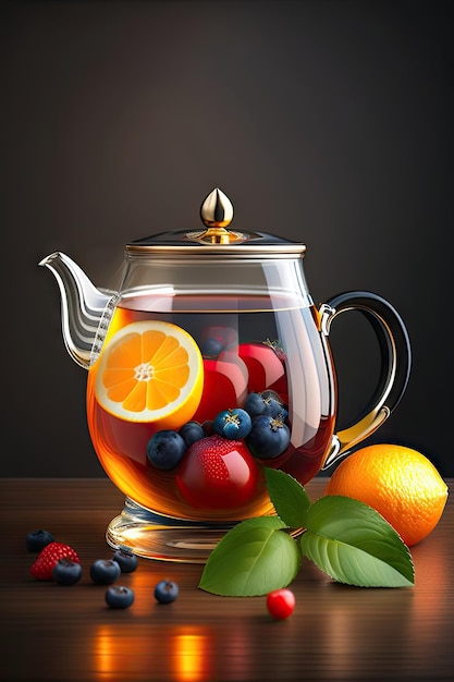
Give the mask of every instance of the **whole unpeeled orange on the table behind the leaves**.
[(410, 546), (440, 521), (447, 486), (426, 455), (383, 443), (349, 454), (331, 475), (324, 495), (343, 495), (369, 504)]

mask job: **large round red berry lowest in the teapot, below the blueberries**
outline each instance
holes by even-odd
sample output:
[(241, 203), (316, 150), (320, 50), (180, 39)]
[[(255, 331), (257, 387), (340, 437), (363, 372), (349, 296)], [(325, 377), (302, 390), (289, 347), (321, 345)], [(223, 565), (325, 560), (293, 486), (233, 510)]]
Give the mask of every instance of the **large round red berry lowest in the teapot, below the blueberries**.
[(258, 465), (242, 440), (208, 436), (193, 443), (176, 472), (182, 498), (197, 509), (235, 509), (256, 492)]

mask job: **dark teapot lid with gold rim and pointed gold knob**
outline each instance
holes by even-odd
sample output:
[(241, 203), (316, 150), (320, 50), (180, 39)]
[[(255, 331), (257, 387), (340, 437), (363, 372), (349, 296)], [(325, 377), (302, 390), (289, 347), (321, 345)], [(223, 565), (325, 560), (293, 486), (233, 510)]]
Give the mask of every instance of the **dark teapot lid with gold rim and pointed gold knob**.
[[(135, 240), (126, 244), (132, 253), (152, 252), (192, 252), (195, 248), (210, 254), (235, 254), (238, 249), (255, 254), (303, 254), (305, 244), (282, 239), (260, 231), (228, 230), (233, 220), (233, 206), (229, 197), (219, 187), (208, 194), (200, 206), (200, 218), (205, 226), (199, 230), (175, 230), (160, 232), (151, 236)], [(244, 253), (244, 255), (246, 255)]]

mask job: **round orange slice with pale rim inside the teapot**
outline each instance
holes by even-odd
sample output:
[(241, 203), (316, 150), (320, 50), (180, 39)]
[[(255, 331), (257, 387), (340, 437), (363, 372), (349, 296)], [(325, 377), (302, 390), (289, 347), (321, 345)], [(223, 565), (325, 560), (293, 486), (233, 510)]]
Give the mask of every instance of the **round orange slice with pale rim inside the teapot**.
[(98, 402), (127, 422), (159, 422), (160, 428), (179, 428), (196, 412), (203, 388), (198, 345), (171, 322), (126, 325), (108, 341), (96, 366)]

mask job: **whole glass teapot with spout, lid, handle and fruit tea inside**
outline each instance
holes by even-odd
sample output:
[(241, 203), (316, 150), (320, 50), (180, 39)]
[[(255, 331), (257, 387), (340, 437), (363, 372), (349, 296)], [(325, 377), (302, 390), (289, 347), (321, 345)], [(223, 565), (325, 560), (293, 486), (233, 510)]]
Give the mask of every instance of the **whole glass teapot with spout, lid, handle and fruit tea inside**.
[[(125, 496), (107, 541), (198, 563), (240, 520), (273, 513), (263, 467), (306, 484), (383, 424), (410, 369), (385, 300), (352, 291), (316, 307), (304, 244), (231, 229), (219, 188), (200, 217), (198, 230), (127, 244), (118, 292), (62, 253), (39, 264), (60, 287), (66, 349), (88, 370), (95, 451)], [(381, 366), (370, 404), (339, 430), (329, 333), (346, 310), (370, 321)]]

